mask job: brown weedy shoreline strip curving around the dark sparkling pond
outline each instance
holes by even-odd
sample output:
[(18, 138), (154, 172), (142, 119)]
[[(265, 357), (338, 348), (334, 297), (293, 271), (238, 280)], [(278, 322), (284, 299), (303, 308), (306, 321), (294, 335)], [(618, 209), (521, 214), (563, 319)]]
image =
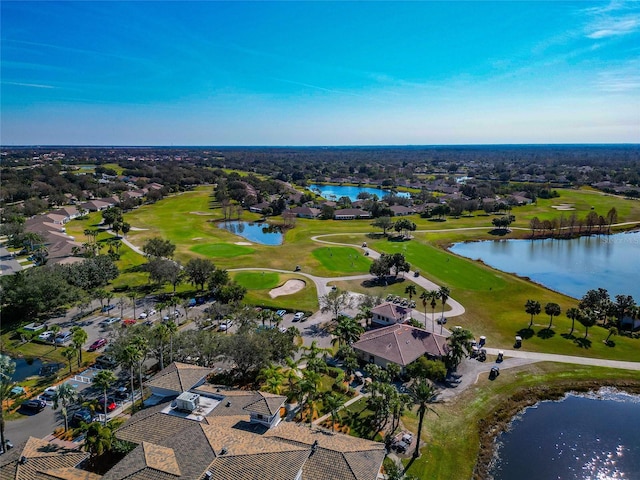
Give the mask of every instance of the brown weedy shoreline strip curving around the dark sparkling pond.
[(513, 419), (526, 408), (546, 400), (560, 400), (569, 393), (581, 394), (596, 392), (605, 387), (615, 388), (616, 390), (633, 395), (640, 395), (640, 379), (617, 381), (567, 380), (555, 385), (524, 388), (511, 395), (491, 413), (478, 420), (480, 446), (471, 478), (473, 480), (486, 480), (491, 478), (489, 472), (495, 458), (496, 438), (506, 431)]

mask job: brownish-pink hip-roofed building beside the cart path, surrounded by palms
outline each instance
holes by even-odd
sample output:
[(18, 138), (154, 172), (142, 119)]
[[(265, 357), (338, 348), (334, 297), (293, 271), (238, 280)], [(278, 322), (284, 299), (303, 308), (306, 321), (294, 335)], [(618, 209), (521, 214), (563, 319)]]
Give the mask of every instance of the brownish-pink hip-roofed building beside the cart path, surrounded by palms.
[(386, 368), (389, 363), (403, 369), (426, 355), (441, 358), (447, 353), (446, 337), (411, 325), (390, 325), (365, 332), (353, 344), (361, 360)]

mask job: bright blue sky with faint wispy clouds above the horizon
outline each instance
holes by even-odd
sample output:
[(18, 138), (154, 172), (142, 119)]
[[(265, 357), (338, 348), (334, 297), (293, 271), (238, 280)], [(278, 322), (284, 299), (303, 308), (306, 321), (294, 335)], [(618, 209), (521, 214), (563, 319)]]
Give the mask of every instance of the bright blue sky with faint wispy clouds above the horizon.
[(0, 2), (3, 145), (640, 142), (640, 2)]

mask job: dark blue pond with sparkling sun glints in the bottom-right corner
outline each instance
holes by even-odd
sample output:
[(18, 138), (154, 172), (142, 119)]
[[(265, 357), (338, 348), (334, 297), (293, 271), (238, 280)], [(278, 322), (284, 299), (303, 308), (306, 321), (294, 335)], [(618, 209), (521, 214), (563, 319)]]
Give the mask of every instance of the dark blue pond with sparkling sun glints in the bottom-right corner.
[(640, 479), (640, 397), (602, 389), (541, 402), (497, 438), (494, 480)]

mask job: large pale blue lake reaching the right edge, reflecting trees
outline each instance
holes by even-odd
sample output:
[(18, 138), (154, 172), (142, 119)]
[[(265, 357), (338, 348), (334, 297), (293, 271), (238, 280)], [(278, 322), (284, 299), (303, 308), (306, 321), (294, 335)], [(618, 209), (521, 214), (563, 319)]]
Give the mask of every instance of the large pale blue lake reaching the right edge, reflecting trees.
[(570, 240), (489, 240), (456, 243), (450, 250), (498, 270), (529, 277), (552, 290), (582, 298), (606, 288), (640, 300), (640, 232)]

